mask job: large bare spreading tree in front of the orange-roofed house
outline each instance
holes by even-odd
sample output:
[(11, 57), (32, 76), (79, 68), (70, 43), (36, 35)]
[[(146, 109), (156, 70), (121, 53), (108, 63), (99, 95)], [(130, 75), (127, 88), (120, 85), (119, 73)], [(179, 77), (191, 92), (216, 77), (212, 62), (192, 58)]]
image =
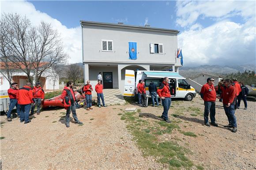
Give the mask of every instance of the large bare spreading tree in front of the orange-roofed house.
[(63, 50), (59, 33), (51, 24), (41, 22), (35, 27), (26, 16), (17, 14), (4, 14), (2, 18), (9, 25), (6, 37), (7, 48), (13, 53), (11, 61), (26, 73), (30, 83), (40, 80), (56, 64), (66, 62), (68, 55)]

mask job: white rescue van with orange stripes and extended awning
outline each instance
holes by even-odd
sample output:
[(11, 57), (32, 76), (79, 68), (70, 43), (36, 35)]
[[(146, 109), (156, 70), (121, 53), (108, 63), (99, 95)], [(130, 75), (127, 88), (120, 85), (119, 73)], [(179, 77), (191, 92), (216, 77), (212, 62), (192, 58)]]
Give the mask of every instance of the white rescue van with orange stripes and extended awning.
[(139, 80), (145, 81), (146, 94), (149, 96), (148, 86), (151, 81), (159, 88), (164, 77), (169, 78), (169, 85), (172, 98), (184, 98), (191, 101), (196, 97), (196, 90), (190, 86), (177, 72), (172, 71), (134, 71), (125, 70), (124, 96), (135, 96)]

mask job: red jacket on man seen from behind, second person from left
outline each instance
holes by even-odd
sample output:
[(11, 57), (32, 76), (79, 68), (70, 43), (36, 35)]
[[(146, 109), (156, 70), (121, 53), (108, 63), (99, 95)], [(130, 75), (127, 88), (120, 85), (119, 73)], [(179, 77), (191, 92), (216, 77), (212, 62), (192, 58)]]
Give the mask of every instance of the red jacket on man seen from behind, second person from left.
[(18, 104), (31, 104), (33, 100), (33, 90), (30, 86), (24, 85), (17, 92)]

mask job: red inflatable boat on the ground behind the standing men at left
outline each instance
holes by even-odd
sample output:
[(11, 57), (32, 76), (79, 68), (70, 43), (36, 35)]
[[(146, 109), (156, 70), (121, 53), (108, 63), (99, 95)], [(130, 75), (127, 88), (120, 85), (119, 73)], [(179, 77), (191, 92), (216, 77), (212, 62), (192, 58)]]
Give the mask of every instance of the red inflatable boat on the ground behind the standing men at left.
[[(55, 96), (51, 99), (45, 99), (42, 101), (42, 108), (46, 108), (49, 106), (59, 106), (59, 107), (64, 107), (64, 104), (62, 103), (62, 99), (60, 99), (60, 96)], [(75, 92), (75, 99), (79, 100), (81, 98), (81, 95), (79, 92)]]

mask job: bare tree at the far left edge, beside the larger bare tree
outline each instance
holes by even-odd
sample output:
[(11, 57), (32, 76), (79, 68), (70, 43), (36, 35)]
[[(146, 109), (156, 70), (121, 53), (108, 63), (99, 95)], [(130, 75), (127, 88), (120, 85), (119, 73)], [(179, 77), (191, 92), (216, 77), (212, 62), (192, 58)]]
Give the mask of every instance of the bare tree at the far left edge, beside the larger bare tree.
[(12, 52), (7, 47), (10, 43), (6, 36), (8, 36), (9, 25), (7, 24), (5, 18), (0, 20), (0, 73), (6, 78), (11, 87), (12, 76), (17, 69), (11, 60), (9, 59), (12, 56)]

